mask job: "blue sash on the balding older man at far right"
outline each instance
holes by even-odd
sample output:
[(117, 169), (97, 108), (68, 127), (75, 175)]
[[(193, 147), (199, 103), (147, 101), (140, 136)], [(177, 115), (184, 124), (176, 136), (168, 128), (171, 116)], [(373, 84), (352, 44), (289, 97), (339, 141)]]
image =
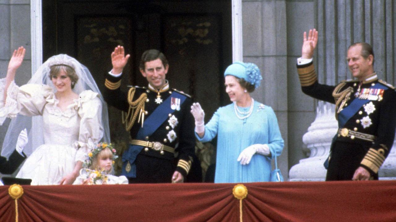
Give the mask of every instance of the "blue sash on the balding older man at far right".
[[(386, 90), (388, 87), (376, 83), (375, 85), (371, 86), (370, 88), (379, 88)], [(353, 96), (353, 95), (352, 95)], [(350, 103), (347, 107), (345, 107), (341, 112), (338, 114), (338, 128), (343, 128), (346, 122), (356, 114), (356, 112), (366, 103), (370, 102), (371, 100), (363, 100), (359, 98), (355, 98), (352, 103)]]

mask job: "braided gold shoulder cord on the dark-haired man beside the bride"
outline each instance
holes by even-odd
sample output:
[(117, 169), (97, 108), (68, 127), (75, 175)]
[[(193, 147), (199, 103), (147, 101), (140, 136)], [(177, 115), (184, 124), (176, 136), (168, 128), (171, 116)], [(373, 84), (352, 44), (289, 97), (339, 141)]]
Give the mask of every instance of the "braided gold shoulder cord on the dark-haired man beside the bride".
[[(130, 88), (128, 91), (128, 113), (125, 113), (124, 111), (122, 112), (122, 123), (125, 123), (126, 131), (131, 130), (133, 124), (135, 123), (137, 115), (139, 115), (139, 119), (137, 120), (137, 122), (140, 122), (140, 120), (142, 120), (142, 127), (145, 120), (145, 101), (147, 99), (147, 94), (142, 93), (135, 101), (132, 101), (133, 95), (135, 95), (135, 87)], [(137, 110), (139, 110), (139, 112), (137, 112)]]

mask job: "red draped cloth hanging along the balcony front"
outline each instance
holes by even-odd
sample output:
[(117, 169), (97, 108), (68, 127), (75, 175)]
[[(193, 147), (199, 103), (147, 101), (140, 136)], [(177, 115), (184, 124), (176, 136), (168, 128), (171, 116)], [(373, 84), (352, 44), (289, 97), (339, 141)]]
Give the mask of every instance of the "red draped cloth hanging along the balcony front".
[[(236, 184), (22, 186), (19, 221), (240, 221)], [(396, 181), (244, 183), (243, 221), (396, 221)], [(15, 221), (9, 186), (0, 221)]]

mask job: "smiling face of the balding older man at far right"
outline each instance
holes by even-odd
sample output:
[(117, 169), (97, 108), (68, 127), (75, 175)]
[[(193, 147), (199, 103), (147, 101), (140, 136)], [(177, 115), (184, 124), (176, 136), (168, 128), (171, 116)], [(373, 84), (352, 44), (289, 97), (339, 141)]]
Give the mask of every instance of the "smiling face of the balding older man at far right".
[(348, 49), (348, 55), (346, 57), (348, 62), (349, 71), (352, 76), (363, 81), (367, 76), (374, 73), (373, 70), (373, 55), (369, 55), (367, 58), (362, 56), (362, 46), (355, 45)]

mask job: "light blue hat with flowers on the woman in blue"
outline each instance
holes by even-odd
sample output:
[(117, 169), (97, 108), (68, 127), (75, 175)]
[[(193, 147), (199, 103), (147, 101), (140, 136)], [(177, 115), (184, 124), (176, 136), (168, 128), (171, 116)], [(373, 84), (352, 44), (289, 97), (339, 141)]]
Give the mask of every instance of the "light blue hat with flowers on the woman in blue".
[(259, 87), (263, 79), (259, 67), (250, 62), (234, 62), (224, 71), (224, 76), (226, 75), (233, 75), (240, 79), (245, 79), (245, 81), (254, 85), (254, 88)]

